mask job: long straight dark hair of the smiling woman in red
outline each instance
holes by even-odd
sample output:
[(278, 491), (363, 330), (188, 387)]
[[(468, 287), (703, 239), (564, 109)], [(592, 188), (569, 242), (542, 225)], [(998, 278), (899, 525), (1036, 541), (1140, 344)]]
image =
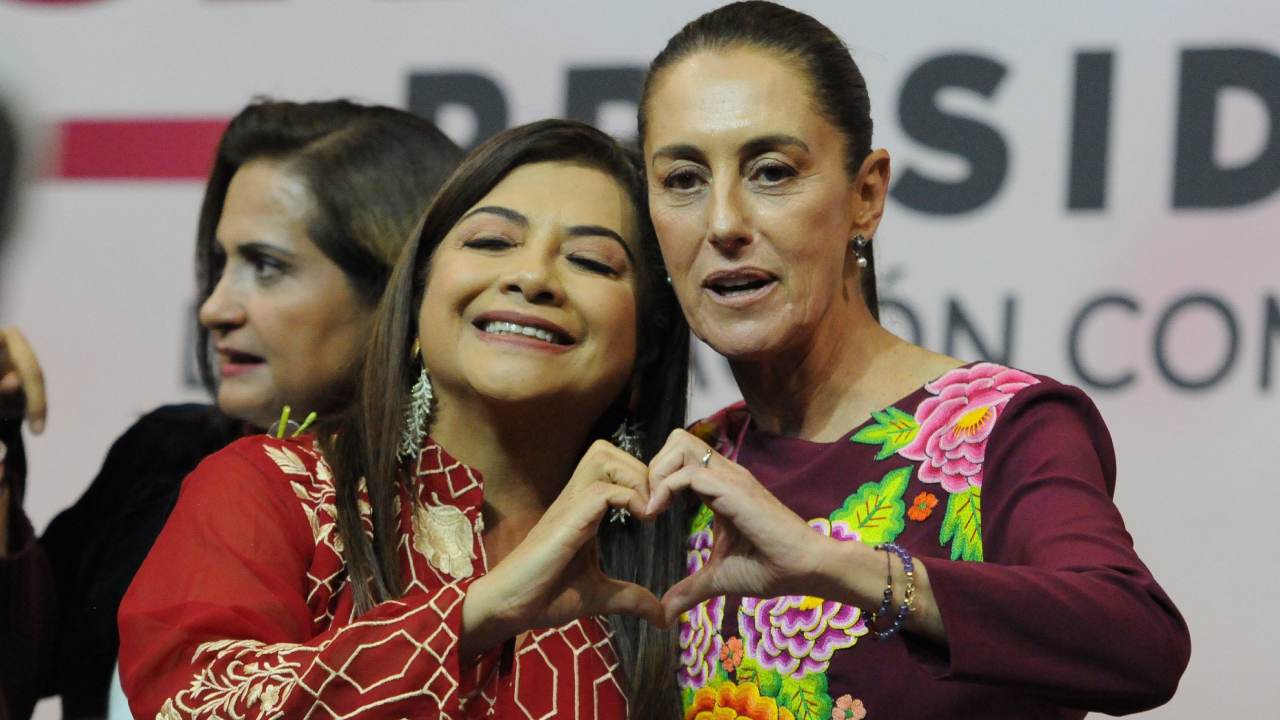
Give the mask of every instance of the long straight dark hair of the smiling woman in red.
[[(614, 400), (595, 424), (595, 437), (607, 437), (621, 423), (631, 389), (637, 389), (639, 405), (631, 409), (631, 420), (640, 425), (645, 459), (653, 457), (667, 434), (684, 424), (689, 327), (675, 293), (663, 279), (666, 273), (649, 225), (640, 159), (600, 131), (572, 120), (541, 120), (494, 136), (449, 178), (404, 246), (375, 314), (357, 400), (339, 432), (326, 441), (325, 455), (337, 484), (343, 556), (360, 612), (403, 593), (394, 498), (398, 486), (411, 478), (402, 473), (393, 438), (399, 437), (408, 392), (419, 374), (411, 346), (417, 337), (419, 307), (431, 254), (462, 215), (512, 170), (544, 161), (580, 164), (613, 177), (627, 191), (641, 232), (639, 354), (632, 373), (632, 382), (639, 387), (627, 388)], [(422, 341), (429, 342), (428, 338)], [(358, 478), (367, 482), (372, 538), (365, 534), (357, 510)], [(604, 570), (660, 594), (684, 569), (686, 520), (687, 509), (681, 506), (655, 523), (602, 524), (599, 547)], [(613, 616), (611, 621), (630, 683), (632, 714), (650, 717), (678, 712), (680, 698), (673, 688), (678, 655), (675, 633), (657, 630), (632, 618)]]

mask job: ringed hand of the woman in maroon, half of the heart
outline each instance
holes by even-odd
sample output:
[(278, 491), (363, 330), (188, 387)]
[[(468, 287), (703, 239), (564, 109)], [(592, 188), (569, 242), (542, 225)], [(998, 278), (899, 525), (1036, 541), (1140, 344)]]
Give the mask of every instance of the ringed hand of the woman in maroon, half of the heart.
[(668, 623), (719, 594), (814, 594), (822, 587), (824, 553), (837, 541), (815, 532), (751, 473), (701, 439), (685, 430), (671, 433), (649, 462), (649, 483), (654, 514), (686, 489), (716, 514), (710, 557), (662, 597)]

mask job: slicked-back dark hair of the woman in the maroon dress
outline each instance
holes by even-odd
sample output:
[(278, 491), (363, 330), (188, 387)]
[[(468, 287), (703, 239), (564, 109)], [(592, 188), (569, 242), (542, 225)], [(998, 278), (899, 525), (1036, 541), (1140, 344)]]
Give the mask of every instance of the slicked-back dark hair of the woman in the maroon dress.
[[(698, 51), (735, 47), (759, 47), (796, 63), (809, 79), (814, 106), (845, 136), (845, 172), (850, 178), (858, 177), (863, 160), (872, 151), (872, 102), (858, 63), (831, 28), (799, 10), (764, 0), (717, 8), (686, 24), (667, 41), (667, 46), (649, 64), (640, 95), (640, 143), (644, 145), (649, 95), (662, 70)], [(863, 300), (878, 320), (879, 296), (870, 245), (864, 256)]]

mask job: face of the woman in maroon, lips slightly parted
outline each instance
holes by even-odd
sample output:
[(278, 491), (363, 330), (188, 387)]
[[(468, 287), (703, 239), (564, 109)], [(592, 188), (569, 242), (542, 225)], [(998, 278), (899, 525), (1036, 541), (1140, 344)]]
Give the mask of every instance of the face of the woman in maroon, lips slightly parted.
[(878, 213), (868, 219), (845, 138), (797, 65), (753, 47), (698, 51), (662, 70), (646, 113), (650, 215), (698, 337), (763, 360), (861, 302), (849, 242), (870, 237)]

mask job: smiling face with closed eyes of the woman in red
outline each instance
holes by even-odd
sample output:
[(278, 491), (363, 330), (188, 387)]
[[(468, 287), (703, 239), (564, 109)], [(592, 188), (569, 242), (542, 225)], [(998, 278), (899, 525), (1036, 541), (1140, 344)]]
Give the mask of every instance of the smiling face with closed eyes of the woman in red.
[(463, 214), (419, 314), (442, 411), (538, 402), (595, 418), (636, 359), (635, 209), (596, 169), (535, 163)]

